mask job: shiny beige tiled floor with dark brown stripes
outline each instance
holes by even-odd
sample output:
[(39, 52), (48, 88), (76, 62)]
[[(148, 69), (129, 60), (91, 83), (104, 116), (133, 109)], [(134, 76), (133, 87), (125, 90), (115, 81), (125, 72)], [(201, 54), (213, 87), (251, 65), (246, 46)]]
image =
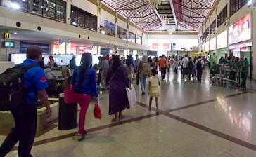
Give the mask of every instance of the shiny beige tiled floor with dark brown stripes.
[[(171, 70), (172, 71), (172, 70)], [(135, 81), (134, 81), (135, 82)], [(256, 82), (247, 89), (212, 85), (208, 70), (202, 83), (167, 74), (160, 85), (159, 109), (148, 110), (148, 95), (136, 88), (137, 104), (124, 110), (125, 117), (111, 122), (108, 92), (99, 96), (101, 120), (93, 116), (94, 103), (87, 111), (82, 142), (77, 128), (58, 130), (58, 120), (49, 123), (34, 141), (34, 157), (231, 157), (256, 156)], [(146, 92), (147, 93), (147, 92)], [(5, 135), (0, 135), (0, 142)], [(18, 145), (17, 145), (18, 146)], [(17, 155), (17, 146), (8, 157)]]

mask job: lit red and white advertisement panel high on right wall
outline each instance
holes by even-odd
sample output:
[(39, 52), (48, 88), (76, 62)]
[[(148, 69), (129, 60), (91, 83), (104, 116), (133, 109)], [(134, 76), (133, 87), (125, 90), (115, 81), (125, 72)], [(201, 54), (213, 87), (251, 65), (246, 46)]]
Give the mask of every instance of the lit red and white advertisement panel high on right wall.
[(251, 39), (250, 13), (229, 26), (229, 44)]

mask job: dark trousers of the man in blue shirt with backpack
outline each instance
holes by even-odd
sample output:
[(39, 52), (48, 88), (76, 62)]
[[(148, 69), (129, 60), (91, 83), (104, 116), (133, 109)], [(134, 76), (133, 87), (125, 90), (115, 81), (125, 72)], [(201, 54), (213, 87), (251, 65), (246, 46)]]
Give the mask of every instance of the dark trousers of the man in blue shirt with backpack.
[(15, 120), (15, 128), (12, 128), (1, 144), (0, 157), (6, 156), (18, 141), (18, 156), (31, 156), (30, 151), (37, 131), (37, 105), (22, 104), (11, 113)]

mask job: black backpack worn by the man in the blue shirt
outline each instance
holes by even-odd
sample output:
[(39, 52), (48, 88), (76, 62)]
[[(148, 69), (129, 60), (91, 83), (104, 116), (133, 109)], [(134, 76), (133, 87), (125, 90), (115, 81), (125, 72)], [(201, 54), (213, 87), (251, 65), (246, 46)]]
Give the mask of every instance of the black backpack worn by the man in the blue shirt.
[(22, 67), (20, 64), (0, 74), (0, 111), (16, 109), (26, 97), (24, 72), (34, 64)]

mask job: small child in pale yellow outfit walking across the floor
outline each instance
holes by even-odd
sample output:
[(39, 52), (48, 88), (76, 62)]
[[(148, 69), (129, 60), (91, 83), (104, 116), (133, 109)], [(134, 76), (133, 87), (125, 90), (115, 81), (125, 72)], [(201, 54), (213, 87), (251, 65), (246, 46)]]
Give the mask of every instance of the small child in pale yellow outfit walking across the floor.
[(156, 114), (159, 114), (158, 111), (158, 96), (159, 96), (159, 88), (158, 86), (160, 85), (159, 78), (157, 76), (158, 71), (156, 69), (151, 69), (151, 74), (152, 76), (148, 78), (148, 95), (149, 95), (149, 107), (148, 110), (151, 110), (151, 104), (152, 104), (152, 99), (155, 97), (155, 106), (156, 106)]

